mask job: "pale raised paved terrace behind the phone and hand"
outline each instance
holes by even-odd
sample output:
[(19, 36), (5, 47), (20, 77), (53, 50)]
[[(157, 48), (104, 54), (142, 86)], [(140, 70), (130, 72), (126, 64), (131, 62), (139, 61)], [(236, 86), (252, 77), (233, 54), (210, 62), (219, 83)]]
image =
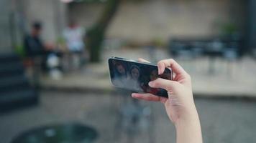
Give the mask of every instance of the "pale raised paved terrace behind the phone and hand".
[[(171, 58), (167, 51), (156, 49), (109, 49), (103, 51), (100, 64), (88, 64), (82, 71), (65, 74), (63, 79), (55, 81), (42, 77), (45, 88), (73, 90), (111, 91), (107, 59), (110, 56), (137, 59), (143, 57), (150, 61)], [(219, 97), (256, 97), (255, 60), (243, 57), (238, 61), (216, 59), (211, 62), (208, 57), (180, 57), (176, 60), (191, 74), (193, 93), (201, 96)], [(209, 72), (209, 69), (214, 69)]]

